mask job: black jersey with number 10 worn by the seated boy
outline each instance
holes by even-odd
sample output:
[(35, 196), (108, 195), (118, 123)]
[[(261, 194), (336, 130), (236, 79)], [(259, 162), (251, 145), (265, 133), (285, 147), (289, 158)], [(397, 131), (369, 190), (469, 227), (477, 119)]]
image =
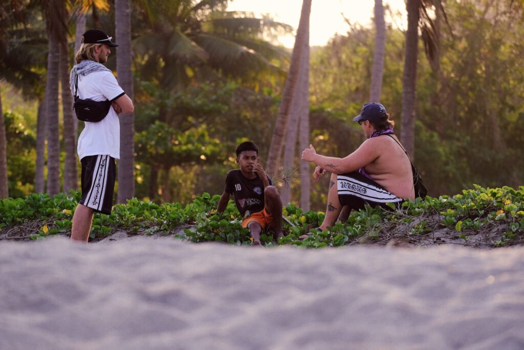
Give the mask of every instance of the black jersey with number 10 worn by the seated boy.
[[(267, 179), (271, 185), (269, 176)], [(239, 169), (230, 171), (227, 173), (224, 192), (233, 195), (236, 207), (242, 216), (247, 210), (249, 213), (256, 213), (264, 209), (264, 183), (258, 174), (256, 178), (249, 179), (242, 175)]]

